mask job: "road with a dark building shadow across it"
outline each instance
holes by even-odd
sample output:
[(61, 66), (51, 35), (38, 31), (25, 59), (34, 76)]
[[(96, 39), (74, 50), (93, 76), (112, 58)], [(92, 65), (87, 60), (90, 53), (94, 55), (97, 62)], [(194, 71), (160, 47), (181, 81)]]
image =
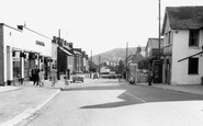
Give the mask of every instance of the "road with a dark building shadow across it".
[(203, 96), (117, 80), (71, 83), (27, 126), (202, 126)]

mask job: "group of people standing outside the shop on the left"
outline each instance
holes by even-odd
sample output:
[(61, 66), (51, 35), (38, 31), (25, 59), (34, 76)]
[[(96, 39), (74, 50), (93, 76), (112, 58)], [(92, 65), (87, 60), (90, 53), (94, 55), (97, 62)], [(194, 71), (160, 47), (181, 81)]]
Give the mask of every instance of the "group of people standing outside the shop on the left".
[[(57, 70), (56, 67), (53, 66), (53, 69), (50, 70), (50, 79), (52, 79), (52, 87), (55, 87), (55, 83), (57, 82)], [(37, 66), (31, 70), (31, 81), (33, 81), (33, 85), (40, 85), (44, 87), (45, 83), (45, 72), (43, 69), (38, 69)]]

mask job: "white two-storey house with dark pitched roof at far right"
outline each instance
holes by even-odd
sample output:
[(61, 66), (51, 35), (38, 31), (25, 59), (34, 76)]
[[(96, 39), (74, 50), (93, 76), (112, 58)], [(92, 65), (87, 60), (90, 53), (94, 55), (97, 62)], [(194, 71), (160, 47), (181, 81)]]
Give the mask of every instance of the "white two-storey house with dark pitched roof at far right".
[(202, 51), (202, 28), (203, 7), (166, 8), (162, 24), (165, 83), (201, 83), (203, 57), (195, 54)]

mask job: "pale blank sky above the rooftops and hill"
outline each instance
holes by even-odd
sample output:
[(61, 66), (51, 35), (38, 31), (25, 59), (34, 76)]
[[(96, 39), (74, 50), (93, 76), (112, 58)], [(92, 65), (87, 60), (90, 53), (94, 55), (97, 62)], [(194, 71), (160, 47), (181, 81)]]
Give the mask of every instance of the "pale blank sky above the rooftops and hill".
[[(166, 7), (203, 5), (203, 0), (161, 0)], [(1, 0), (0, 23), (58, 36), (89, 56), (114, 48), (146, 46), (158, 38), (158, 0)]]

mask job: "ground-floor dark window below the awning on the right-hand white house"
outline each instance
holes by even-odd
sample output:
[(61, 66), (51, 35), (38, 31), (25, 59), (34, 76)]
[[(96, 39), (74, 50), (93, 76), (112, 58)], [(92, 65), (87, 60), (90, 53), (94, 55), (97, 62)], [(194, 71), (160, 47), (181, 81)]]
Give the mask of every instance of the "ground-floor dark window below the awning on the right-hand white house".
[(189, 58), (189, 75), (198, 75), (199, 58)]

